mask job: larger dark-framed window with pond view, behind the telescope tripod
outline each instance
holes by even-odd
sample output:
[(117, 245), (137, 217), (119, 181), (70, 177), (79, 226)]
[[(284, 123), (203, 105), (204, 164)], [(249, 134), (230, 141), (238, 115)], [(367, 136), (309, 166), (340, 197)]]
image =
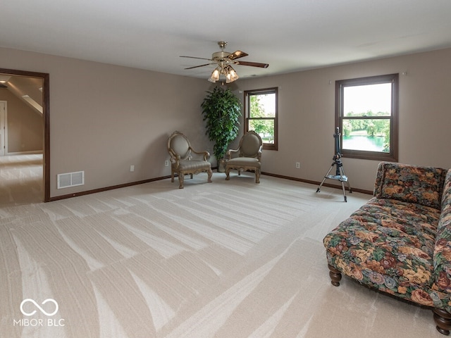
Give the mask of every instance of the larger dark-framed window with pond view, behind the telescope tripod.
[(335, 123), (341, 154), (349, 158), (397, 161), (398, 75), (335, 82)]

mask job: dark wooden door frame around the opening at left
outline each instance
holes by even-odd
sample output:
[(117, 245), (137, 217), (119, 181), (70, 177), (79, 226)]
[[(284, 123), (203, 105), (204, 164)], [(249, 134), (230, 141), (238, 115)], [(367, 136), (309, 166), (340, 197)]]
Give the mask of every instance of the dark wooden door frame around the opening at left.
[(50, 84), (49, 73), (29, 72), (27, 70), (14, 70), (0, 68), (1, 74), (18, 75), (25, 77), (40, 77), (42, 84), (42, 118), (44, 119), (44, 154), (43, 157), (43, 180), (44, 180), (44, 202), (50, 201)]

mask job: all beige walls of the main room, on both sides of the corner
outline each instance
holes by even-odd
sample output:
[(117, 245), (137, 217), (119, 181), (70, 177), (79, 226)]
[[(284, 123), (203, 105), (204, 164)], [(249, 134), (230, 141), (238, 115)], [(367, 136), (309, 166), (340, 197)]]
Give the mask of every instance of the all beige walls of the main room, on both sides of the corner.
[[(247, 89), (279, 87), (279, 150), (264, 151), (263, 170), (319, 182), (334, 151), (335, 80), (407, 71), (400, 75), (399, 160), (449, 168), (450, 59), (451, 49), (444, 49), (241, 78), (232, 87), (241, 98)], [(1, 48), (0, 60), (0, 68), (50, 74), (52, 197), (169, 175), (163, 163), (173, 130), (212, 150), (199, 108), (212, 87), (206, 79)], [(373, 189), (377, 161), (343, 158), (343, 164), (352, 187)], [(85, 170), (84, 186), (56, 189), (58, 173), (78, 170)]]

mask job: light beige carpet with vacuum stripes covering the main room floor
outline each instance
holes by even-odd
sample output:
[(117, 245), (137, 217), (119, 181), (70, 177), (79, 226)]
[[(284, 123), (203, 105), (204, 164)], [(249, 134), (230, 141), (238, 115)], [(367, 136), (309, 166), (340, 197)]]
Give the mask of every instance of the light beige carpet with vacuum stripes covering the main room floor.
[(428, 309), (330, 284), (321, 240), (371, 196), (224, 178), (8, 197), (0, 337), (441, 337)]

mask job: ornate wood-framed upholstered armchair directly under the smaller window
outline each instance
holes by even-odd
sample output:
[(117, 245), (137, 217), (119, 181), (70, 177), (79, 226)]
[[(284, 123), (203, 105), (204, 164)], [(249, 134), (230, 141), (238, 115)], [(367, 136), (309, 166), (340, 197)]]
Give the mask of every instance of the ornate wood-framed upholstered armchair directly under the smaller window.
[(240, 139), (238, 149), (227, 151), (226, 180), (230, 180), (230, 170), (235, 169), (238, 170), (238, 175), (242, 171), (254, 171), (255, 182), (260, 183), (262, 146), (263, 142), (257, 132), (246, 132)]

